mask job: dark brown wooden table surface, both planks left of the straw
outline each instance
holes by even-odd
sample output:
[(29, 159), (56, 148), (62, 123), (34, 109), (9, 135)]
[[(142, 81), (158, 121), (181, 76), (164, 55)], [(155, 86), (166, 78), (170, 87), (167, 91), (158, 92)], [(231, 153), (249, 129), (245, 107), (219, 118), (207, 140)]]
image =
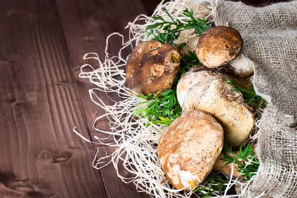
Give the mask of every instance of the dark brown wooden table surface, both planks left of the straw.
[[(93, 115), (103, 113), (89, 97), (93, 84), (78, 77), (81, 65), (95, 64), (83, 55), (103, 58), (107, 35), (127, 36), (127, 22), (157, 2), (0, 1), (0, 198), (149, 197), (123, 183), (112, 164), (94, 169), (98, 146), (72, 130), (92, 140)], [(112, 150), (99, 146), (99, 156)]]

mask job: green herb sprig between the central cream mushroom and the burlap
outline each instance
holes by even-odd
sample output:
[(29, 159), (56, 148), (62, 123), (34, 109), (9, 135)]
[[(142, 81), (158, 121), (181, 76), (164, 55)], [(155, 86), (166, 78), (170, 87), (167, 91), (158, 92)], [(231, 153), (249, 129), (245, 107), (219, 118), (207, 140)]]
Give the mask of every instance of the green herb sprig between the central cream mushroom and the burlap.
[(255, 101), (256, 105), (254, 107), (254, 110), (256, 110), (260, 104), (266, 103), (265, 100), (256, 94), (254, 88), (250, 88), (248, 90), (241, 88), (238, 86), (235, 82), (233, 82), (231, 79), (226, 79), (229, 85), (232, 85), (234, 87), (234, 92), (241, 92), (244, 99), (247, 101), (247, 105), (249, 105), (251, 102)]

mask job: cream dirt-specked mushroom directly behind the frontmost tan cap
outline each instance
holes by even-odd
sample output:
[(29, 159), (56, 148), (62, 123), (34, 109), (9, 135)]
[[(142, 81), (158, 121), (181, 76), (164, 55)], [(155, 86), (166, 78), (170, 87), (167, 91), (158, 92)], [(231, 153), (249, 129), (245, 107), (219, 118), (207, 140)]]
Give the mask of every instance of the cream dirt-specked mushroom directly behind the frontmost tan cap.
[(254, 116), (240, 92), (226, 80), (212, 80), (192, 86), (184, 101), (183, 113), (198, 109), (210, 113), (224, 128), (229, 146), (240, 147), (247, 140)]

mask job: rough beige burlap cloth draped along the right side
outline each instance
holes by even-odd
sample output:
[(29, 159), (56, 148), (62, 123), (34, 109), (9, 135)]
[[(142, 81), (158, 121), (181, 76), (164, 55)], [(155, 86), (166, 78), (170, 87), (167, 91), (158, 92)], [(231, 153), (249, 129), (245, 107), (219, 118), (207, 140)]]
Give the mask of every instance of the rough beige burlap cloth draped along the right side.
[(246, 197), (297, 198), (297, 1), (252, 7), (219, 1), (216, 25), (237, 29), (268, 101), (259, 124), (260, 167)]

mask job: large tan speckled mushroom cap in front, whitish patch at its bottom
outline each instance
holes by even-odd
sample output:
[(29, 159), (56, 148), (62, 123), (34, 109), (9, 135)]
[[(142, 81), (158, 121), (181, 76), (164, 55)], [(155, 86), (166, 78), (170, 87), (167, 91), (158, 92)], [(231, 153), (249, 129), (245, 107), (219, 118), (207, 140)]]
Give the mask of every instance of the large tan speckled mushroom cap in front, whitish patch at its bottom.
[(222, 126), (208, 113), (193, 110), (178, 117), (157, 148), (170, 183), (177, 189), (194, 189), (210, 173), (223, 139)]

